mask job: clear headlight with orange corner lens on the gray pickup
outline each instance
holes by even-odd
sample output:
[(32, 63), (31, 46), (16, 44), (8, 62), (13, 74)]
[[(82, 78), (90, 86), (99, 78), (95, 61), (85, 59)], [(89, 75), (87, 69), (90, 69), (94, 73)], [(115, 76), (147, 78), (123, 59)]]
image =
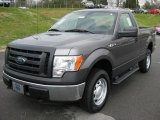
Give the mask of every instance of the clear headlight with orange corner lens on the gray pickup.
[(55, 56), (52, 76), (62, 77), (66, 71), (78, 71), (82, 61), (82, 56)]

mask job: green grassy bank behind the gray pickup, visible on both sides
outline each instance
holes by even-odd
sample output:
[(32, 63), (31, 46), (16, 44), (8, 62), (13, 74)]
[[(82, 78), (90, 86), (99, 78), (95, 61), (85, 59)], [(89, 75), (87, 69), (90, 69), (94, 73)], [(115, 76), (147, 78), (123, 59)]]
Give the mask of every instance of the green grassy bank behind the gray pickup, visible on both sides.
[[(37, 11), (0, 7), (0, 49), (12, 40), (47, 31), (57, 19), (74, 10), (77, 9), (43, 8)], [(142, 27), (153, 27), (160, 23), (160, 15), (136, 14), (135, 18)]]

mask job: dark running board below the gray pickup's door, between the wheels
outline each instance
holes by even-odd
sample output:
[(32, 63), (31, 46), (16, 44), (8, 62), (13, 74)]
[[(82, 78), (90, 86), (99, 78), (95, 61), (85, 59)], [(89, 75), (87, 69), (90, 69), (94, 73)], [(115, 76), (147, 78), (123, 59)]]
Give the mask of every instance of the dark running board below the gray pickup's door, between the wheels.
[(132, 70), (130, 70), (129, 72), (127, 72), (126, 74), (124, 74), (123, 76), (119, 77), (118, 79), (116, 79), (112, 84), (117, 85), (120, 84), (121, 82), (123, 82), (126, 78), (128, 78), (129, 76), (131, 76), (133, 73), (135, 73), (136, 71), (138, 71), (139, 68), (136, 67)]

